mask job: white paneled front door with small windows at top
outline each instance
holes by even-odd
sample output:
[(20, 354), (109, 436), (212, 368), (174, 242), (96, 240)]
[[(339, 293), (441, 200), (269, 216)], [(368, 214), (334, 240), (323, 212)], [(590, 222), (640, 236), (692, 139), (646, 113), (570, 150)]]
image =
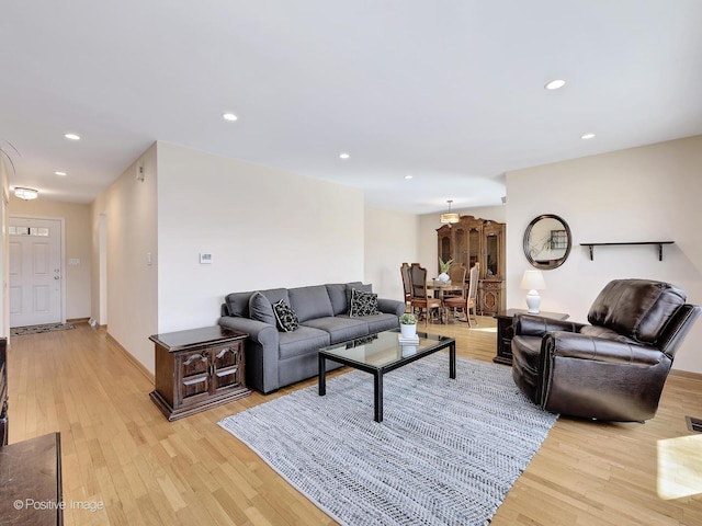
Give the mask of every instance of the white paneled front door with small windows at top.
[(61, 221), (10, 218), (10, 327), (60, 323)]

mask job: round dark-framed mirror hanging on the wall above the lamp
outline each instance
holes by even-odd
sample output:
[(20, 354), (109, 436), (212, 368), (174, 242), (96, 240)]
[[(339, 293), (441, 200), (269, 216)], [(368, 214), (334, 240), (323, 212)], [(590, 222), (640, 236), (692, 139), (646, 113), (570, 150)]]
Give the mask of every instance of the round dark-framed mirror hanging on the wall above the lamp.
[(553, 214), (534, 218), (524, 232), (524, 255), (536, 268), (550, 270), (563, 265), (571, 245), (570, 227)]

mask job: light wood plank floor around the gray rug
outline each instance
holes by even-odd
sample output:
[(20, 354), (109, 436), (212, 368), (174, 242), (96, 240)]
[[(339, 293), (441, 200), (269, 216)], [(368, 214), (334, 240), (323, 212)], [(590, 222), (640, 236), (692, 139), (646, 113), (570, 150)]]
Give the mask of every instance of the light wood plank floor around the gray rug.
[[(462, 356), (495, 355), (489, 318), (429, 331)], [(216, 425), (312, 380), (169, 423), (150, 381), (87, 324), (12, 338), (9, 374), (10, 443), (60, 431), (65, 502), (104, 504), (66, 510), (67, 525), (333, 524)], [(671, 376), (644, 425), (561, 418), (491, 524), (702, 524), (702, 434), (684, 415), (702, 416), (702, 381)]]

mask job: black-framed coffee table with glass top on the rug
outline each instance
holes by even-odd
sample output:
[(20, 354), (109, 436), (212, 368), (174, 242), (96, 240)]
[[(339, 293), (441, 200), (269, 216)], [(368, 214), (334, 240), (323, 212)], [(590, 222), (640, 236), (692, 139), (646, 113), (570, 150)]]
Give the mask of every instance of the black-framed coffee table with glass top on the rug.
[(327, 361), (371, 373), (374, 380), (375, 421), (383, 422), (383, 375), (449, 347), (449, 377), (456, 377), (456, 341), (418, 332), (418, 344), (399, 344), (399, 331), (386, 331), (319, 350), (319, 396), (327, 393)]

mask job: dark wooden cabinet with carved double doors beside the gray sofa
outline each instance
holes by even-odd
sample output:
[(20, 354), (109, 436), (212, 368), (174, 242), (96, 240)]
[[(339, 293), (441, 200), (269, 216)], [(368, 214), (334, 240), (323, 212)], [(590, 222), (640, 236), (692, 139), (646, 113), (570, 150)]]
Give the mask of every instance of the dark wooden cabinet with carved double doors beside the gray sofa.
[(149, 397), (169, 421), (247, 397), (248, 334), (219, 325), (155, 334), (156, 389)]

